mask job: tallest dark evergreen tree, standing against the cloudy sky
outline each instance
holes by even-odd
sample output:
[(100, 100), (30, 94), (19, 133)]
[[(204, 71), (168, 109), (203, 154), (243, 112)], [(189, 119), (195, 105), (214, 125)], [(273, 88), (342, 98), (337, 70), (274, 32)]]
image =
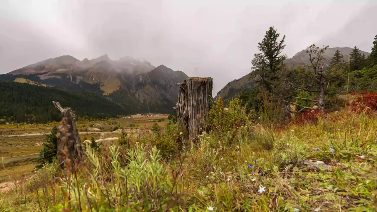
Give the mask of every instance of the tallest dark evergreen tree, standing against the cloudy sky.
[(279, 37), (280, 34), (271, 26), (266, 31), (262, 42), (258, 43), (258, 49), (261, 52), (254, 54), (254, 59), (251, 61), (253, 65), (251, 68), (252, 77), (258, 76), (258, 81), (261, 82), (262, 87), (267, 89), (270, 94), (276, 87), (279, 80), (278, 72), (282, 65), (284, 65), (283, 62), (287, 57), (282, 54), (285, 47), (285, 35), (280, 41), (278, 40)]

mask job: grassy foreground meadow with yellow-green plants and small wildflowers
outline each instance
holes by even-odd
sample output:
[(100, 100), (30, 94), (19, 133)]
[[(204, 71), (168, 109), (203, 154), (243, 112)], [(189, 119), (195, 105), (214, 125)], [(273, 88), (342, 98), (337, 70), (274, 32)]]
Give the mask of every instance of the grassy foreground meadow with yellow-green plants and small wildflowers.
[(77, 179), (50, 164), (0, 194), (0, 211), (376, 211), (375, 117), (337, 112), (277, 129), (258, 121), (220, 135), (213, 129), (171, 160), (151, 144), (183, 136), (178, 127), (129, 148), (87, 148)]

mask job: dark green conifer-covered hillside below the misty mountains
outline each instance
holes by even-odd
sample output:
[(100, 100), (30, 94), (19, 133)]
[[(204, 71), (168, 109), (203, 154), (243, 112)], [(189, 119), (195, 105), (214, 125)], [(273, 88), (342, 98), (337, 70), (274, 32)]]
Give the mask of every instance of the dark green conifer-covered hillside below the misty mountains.
[(95, 94), (0, 80), (0, 124), (5, 122), (46, 123), (60, 121), (52, 104), (70, 107), (79, 118), (102, 119), (127, 115), (118, 103)]

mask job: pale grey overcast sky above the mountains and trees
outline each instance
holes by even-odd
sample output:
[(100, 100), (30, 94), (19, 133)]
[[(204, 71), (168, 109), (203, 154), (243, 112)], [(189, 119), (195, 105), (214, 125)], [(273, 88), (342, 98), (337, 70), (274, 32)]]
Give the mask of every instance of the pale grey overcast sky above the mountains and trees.
[(370, 52), (377, 0), (0, 0), (0, 74), (60, 55), (108, 54), (212, 77), (251, 68), (274, 26), (292, 57), (313, 43)]

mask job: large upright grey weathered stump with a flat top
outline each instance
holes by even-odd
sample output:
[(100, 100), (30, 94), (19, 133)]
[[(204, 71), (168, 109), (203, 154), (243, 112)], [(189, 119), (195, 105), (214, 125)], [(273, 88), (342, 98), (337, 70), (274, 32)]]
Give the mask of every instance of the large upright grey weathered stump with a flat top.
[(186, 126), (189, 137), (196, 139), (207, 127), (211, 109), (212, 78), (189, 77), (179, 86), (177, 117)]

